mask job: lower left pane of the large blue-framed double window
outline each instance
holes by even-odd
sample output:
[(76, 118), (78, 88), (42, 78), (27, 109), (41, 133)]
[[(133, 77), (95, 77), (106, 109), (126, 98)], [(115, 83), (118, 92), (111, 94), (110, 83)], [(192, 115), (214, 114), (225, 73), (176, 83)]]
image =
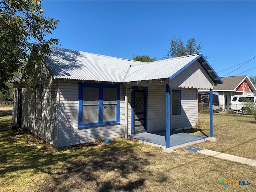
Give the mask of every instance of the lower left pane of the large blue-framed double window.
[(83, 119), (82, 123), (98, 122), (99, 106), (83, 106)]

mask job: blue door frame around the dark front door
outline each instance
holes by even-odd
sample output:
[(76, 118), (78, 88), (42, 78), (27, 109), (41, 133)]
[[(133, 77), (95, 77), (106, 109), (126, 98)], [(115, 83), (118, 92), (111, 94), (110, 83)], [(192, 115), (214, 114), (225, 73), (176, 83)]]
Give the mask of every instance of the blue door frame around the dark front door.
[(148, 87), (134, 86), (132, 87), (132, 118), (131, 118), (131, 134), (134, 135), (134, 91), (145, 91), (145, 130), (148, 132)]

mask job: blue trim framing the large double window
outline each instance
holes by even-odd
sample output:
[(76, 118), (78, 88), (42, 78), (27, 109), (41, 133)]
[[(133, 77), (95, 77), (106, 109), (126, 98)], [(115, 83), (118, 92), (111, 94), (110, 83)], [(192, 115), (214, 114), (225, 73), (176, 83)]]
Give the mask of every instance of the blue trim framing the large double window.
[[(103, 83), (78, 83), (79, 86), (79, 107), (78, 107), (78, 128), (88, 128), (92, 126), (120, 124), (120, 84), (103, 84)], [(95, 87), (99, 88), (99, 103), (95, 104), (99, 106), (98, 122), (94, 123), (82, 123), (83, 118), (83, 88)], [(103, 121), (103, 88), (116, 88), (116, 120), (115, 121)]]

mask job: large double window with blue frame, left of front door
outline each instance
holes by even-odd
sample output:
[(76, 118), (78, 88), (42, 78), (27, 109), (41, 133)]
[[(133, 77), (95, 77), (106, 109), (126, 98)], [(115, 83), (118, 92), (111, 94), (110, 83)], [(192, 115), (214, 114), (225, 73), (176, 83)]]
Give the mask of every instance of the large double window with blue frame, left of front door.
[(79, 83), (80, 128), (119, 123), (120, 85)]

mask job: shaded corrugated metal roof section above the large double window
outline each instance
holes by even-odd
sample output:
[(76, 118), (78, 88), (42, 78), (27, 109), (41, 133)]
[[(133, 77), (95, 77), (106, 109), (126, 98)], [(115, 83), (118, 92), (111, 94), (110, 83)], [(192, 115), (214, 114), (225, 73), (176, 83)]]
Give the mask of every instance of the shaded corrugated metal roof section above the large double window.
[(45, 59), (55, 78), (122, 82), (130, 65), (143, 62), (51, 47)]

